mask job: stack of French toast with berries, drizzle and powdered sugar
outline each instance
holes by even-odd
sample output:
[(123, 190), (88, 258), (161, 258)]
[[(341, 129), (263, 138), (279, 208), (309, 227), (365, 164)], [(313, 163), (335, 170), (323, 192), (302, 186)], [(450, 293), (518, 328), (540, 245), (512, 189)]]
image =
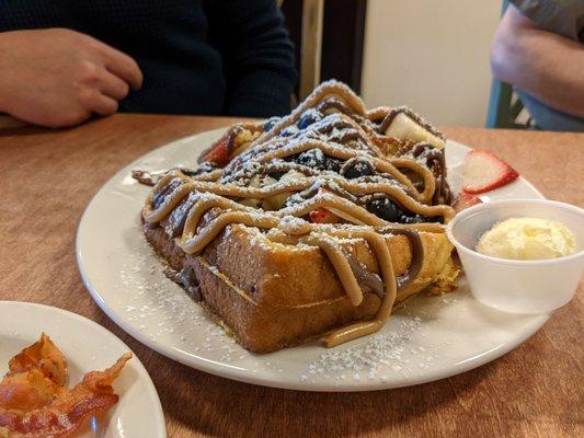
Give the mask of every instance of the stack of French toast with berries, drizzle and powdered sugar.
[(414, 295), (456, 287), (445, 146), (409, 108), (367, 111), (328, 81), (288, 116), (229, 128), (196, 169), (158, 177), (144, 232), (245, 348), (335, 346)]

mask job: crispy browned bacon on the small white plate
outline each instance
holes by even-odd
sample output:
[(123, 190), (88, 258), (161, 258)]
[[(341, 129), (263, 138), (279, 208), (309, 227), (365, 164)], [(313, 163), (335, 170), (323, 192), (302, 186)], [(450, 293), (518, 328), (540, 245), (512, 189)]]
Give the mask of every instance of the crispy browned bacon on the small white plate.
[(131, 358), (127, 353), (104, 371), (88, 372), (67, 389), (67, 362), (43, 333), (14, 356), (0, 382), (0, 438), (66, 438), (84, 418), (117, 403), (113, 381)]

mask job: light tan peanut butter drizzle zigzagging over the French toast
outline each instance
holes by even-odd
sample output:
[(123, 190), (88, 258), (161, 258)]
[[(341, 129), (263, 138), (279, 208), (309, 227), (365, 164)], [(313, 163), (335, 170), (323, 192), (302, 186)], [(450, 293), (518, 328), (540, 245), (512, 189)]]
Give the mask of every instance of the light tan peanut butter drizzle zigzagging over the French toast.
[[(367, 113), (363, 106), (363, 102), (347, 88), (339, 83), (332, 83), (328, 87), (319, 88), (295, 112), (280, 120), (271, 131), (252, 141), (251, 148), (257, 146), (259, 149), (261, 148), (262, 150), (260, 151), (259, 157), (251, 157), (256, 158), (260, 163), (268, 165), (274, 159), (283, 159), (314, 148), (322, 150), (328, 155), (344, 160), (364, 155), (363, 151), (332, 147), (323, 141), (313, 139), (299, 141), (293, 147), (271, 148), (277, 143), (277, 139), (274, 139), (277, 134), (293, 123), (296, 123), (306, 110), (316, 106), (319, 102), (329, 96), (331, 99), (340, 100), (344, 105), (354, 111), (358, 117), (363, 117), (364, 120), (380, 119), (391, 111), (390, 108), (378, 108)], [(373, 145), (373, 151), (382, 157), (382, 153), (380, 153), (377, 146), (379, 141), (381, 141), (382, 136), (375, 132), (373, 125), (369, 126), (365, 124), (366, 126), (364, 125), (362, 127), (350, 117), (347, 118), (350, 119), (350, 125), (357, 130), (359, 136), (365, 136), (367, 139), (371, 140), (369, 146)], [(146, 200), (142, 217), (146, 222), (157, 223), (170, 215), (171, 211), (191, 193), (201, 193), (201, 199), (194, 204), (187, 214), (182, 237), (176, 239), (176, 243), (185, 253), (201, 253), (225, 228), (230, 224), (241, 223), (248, 227), (265, 229), (268, 230), (265, 234), (266, 238), (273, 242), (285, 244), (302, 243), (319, 247), (324, 252), (353, 306), (359, 306), (363, 302), (363, 290), (360, 289), (355, 273), (347, 262), (346, 255), (336, 244), (335, 238), (365, 240), (374, 251), (381, 270), (385, 295), (374, 320), (353, 323), (325, 335), (323, 338), (324, 344), (332, 347), (379, 331), (391, 313), (399, 285), (396, 274), (393, 273), (391, 255), (382, 235), (388, 231), (385, 227), (388, 227), (389, 222), (370, 214), (365, 208), (332, 193), (317, 195), (298, 205), (280, 209), (279, 211), (270, 212), (243, 206), (229, 198), (263, 199), (285, 192), (300, 192), (309, 188), (313, 184), (318, 184), (318, 182), (330, 181), (352, 194), (383, 193), (399, 201), (403, 207), (419, 215), (443, 216), (445, 222), (448, 222), (454, 217), (454, 210), (449, 206), (425, 205), (431, 203), (436, 189), (436, 181), (432, 171), (413, 159), (388, 159), (385, 157), (378, 158), (368, 154), (365, 154), (365, 157), (371, 161), (371, 164), (377, 171), (388, 173), (396, 181), (401, 183), (408, 189), (409, 194), (400, 187), (389, 183), (352, 183), (341, 176), (335, 177), (332, 175), (320, 175), (319, 177), (310, 176), (286, 184), (276, 183), (267, 187), (255, 188), (242, 187), (236, 184), (218, 183), (217, 180), (221, 176), (221, 170), (209, 172), (202, 177), (187, 177), (180, 171), (173, 171), (158, 181)], [(424, 181), (424, 191), (422, 193), (417, 192), (412, 182), (399, 171), (399, 168), (409, 169), (421, 175)], [(164, 198), (162, 205), (153, 209), (154, 194), (160, 193), (160, 191), (176, 178), (179, 178), (182, 184)], [(302, 219), (298, 219), (298, 222), (295, 222), (294, 224), (283, 220), (286, 216), (305, 216), (319, 207), (342, 211), (346, 216), (353, 218), (355, 222), (368, 227), (376, 227), (376, 229), (354, 226), (337, 226), (337, 228), (332, 229), (330, 226), (327, 227), (324, 224), (309, 223)], [(198, 229), (204, 215), (214, 208), (219, 208), (222, 212), (220, 212), (210, 223)], [(439, 223), (392, 223), (391, 228), (426, 232), (444, 232), (444, 227)], [(391, 232), (390, 229), (389, 232)], [(412, 233), (412, 231), (408, 232)], [(420, 238), (417, 237), (416, 239), (420, 244)], [(412, 246), (412, 252), (416, 250)], [(408, 278), (408, 280), (412, 279)]]

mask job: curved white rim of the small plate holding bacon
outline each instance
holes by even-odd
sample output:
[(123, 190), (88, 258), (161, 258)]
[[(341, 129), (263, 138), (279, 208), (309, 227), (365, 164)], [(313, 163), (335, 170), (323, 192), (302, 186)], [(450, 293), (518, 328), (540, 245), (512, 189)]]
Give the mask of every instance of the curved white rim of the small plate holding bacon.
[[(154, 383), (152, 382), (152, 379), (150, 378), (150, 374), (148, 373), (148, 370), (144, 366), (144, 364), (140, 361), (139, 357), (134, 353), (121, 338), (118, 338), (115, 334), (110, 332), (107, 328), (105, 328), (103, 325), (98, 324), (95, 321), (90, 320), (89, 318), (85, 318), (83, 315), (80, 315), (75, 312), (70, 312), (65, 309), (56, 308), (53, 306), (47, 304), (41, 304), (37, 302), (30, 302), (30, 301), (16, 301), (16, 300), (0, 300), (0, 310), (2, 308), (7, 308), (7, 311), (10, 311), (11, 308), (34, 308), (38, 309), (43, 312), (47, 313), (54, 313), (56, 315), (61, 315), (66, 319), (70, 319), (72, 321), (76, 321), (79, 324), (88, 325), (91, 327), (91, 330), (94, 330), (96, 333), (99, 333), (100, 336), (103, 336), (108, 342), (118, 344), (119, 346), (124, 347), (125, 350), (130, 351), (133, 355), (131, 361), (128, 364), (130, 365), (139, 374), (140, 379), (142, 380), (142, 383), (146, 385), (146, 390), (148, 391), (148, 399), (150, 403), (153, 403), (152, 405), (152, 413), (156, 414), (156, 425), (158, 426), (158, 435), (157, 437), (160, 438), (167, 438), (167, 425), (164, 419), (164, 412), (162, 410), (162, 404), (160, 402), (160, 397), (158, 395), (158, 391), (154, 387)], [(41, 328), (39, 333), (43, 330)], [(16, 354), (18, 351), (14, 351)], [(90, 370), (87, 370), (90, 371)], [(121, 394), (121, 397), (124, 395)]]

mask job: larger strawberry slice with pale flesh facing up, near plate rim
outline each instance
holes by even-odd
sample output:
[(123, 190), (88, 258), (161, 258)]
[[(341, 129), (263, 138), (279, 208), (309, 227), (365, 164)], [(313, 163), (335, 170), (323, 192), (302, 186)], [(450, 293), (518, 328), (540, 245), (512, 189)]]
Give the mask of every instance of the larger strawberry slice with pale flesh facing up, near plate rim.
[(478, 194), (508, 184), (519, 174), (492, 152), (476, 149), (467, 153), (462, 164), (462, 189)]

